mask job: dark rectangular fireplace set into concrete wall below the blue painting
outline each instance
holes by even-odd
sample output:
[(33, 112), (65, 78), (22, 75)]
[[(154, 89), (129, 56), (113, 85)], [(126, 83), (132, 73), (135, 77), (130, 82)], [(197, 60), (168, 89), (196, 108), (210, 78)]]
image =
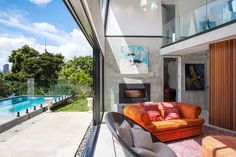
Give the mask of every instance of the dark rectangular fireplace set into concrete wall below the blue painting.
[(150, 101), (150, 84), (119, 84), (119, 103)]

